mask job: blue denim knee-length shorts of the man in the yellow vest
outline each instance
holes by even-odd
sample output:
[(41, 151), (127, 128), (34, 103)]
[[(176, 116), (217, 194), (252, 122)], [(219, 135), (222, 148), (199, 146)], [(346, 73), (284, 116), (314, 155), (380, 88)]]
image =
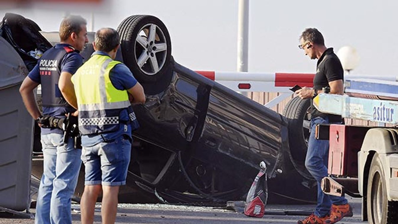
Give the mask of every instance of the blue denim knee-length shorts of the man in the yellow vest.
[(125, 185), (130, 154), (130, 138), (125, 135), (83, 147), (82, 161), (86, 171), (84, 185)]

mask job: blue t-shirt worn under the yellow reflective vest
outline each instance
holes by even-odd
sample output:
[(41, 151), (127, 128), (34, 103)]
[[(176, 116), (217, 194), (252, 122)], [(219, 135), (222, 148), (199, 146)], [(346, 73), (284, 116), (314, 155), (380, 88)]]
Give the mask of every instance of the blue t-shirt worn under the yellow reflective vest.
[[(93, 55), (107, 55), (105, 52), (96, 51)], [(125, 64), (117, 64), (109, 71), (109, 79), (112, 85), (118, 90), (128, 90), (137, 84), (130, 69)], [(129, 113), (127, 109), (121, 111), (120, 120), (129, 121)], [(82, 146), (89, 147), (100, 142), (111, 141), (119, 136), (125, 134), (131, 138), (131, 125), (119, 125), (119, 130), (103, 134), (88, 134), (82, 136)]]

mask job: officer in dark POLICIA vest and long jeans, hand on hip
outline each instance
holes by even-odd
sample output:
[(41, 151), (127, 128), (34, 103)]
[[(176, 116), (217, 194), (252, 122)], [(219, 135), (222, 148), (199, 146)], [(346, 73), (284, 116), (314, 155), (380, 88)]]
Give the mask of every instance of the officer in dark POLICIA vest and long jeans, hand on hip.
[[(23, 80), (20, 93), (27, 111), (39, 119), (43, 148), (43, 176), (36, 205), (36, 224), (72, 223), (71, 197), (80, 170), (81, 150), (74, 148), (73, 139), (63, 141), (64, 131), (49, 128), (49, 116), (64, 118), (76, 111), (72, 74), (82, 65), (79, 51), (88, 42), (86, 20), (80, 16), (68, 16), (60, 24), (60, 43), (47, 50), (37, 65)], [(41, 84), (43, 115), (37, 107), (33, 90)]]

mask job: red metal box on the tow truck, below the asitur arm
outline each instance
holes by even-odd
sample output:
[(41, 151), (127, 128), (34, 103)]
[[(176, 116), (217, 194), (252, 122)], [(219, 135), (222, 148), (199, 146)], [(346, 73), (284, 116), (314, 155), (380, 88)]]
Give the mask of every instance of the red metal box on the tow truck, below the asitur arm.
[(370, 127), (330, 125), (328, 173), (358, 177), (358, 151)]

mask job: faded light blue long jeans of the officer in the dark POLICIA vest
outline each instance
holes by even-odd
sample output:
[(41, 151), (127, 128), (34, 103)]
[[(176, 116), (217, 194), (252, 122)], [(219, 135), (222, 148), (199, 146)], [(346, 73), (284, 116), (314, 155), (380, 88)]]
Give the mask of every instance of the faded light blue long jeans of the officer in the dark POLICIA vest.
[(82, 150), (62, 134), (41, 135), (43, 176), (37, 194), (35, 224), (71, 224), (71, 197), (80, 171)]

